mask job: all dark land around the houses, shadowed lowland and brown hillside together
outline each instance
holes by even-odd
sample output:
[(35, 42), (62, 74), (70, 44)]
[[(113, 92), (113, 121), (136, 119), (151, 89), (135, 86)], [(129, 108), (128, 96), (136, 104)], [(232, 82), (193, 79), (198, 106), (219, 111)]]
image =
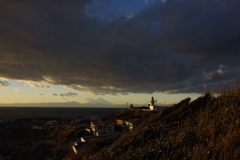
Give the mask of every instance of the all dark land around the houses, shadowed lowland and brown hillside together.
[(123, 109), (102, 118), (142, 119), (122, 131), (83, 146), (76, 155), (72, 141), (88, 135), (82, 124), (60, 121), (0, 123), (0, 154), (8, 160), (240, 160), (240, 89), (186, 98), (161, 111)]

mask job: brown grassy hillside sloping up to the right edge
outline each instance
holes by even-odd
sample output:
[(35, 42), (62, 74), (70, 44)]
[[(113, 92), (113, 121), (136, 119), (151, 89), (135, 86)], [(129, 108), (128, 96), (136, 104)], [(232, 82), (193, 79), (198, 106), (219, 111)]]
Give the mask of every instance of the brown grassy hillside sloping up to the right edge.
[(239, 88), (217, 97), (206, 93), (192, 102), (186, 98), (149, 117), (132, 132), (85, 146), (78, 159), (240, 159)]

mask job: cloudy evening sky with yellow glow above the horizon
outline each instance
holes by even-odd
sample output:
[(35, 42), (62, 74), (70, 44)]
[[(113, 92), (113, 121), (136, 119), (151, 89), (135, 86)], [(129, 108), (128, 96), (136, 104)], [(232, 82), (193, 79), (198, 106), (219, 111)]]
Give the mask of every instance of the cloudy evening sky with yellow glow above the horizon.
[(239, 0), (0, 1), (0, 103), (177, 103), (239, 87)]

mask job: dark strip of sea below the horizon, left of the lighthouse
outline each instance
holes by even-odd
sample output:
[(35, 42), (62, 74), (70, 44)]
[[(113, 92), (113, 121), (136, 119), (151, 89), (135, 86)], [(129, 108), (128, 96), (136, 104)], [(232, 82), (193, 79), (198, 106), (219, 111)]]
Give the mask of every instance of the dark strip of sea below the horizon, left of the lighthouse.
[(0, 107), (0, 121), (32, 118), (73, 120), (76, 116), (98, 116), (100, 119), (121, 109), (122, 108)]

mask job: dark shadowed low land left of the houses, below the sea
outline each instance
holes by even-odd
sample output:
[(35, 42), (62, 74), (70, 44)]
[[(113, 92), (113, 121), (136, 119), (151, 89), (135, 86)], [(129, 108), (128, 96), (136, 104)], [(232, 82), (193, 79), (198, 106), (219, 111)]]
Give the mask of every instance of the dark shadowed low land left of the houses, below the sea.
[[(6, 160), (64, 159), (72, 141), (88, 135), (74, 121), (46, 125), (47, 120), (17, 120), (0, 123), (0, 154)], [(71, 157), (69, 157), (71, 158)]]

